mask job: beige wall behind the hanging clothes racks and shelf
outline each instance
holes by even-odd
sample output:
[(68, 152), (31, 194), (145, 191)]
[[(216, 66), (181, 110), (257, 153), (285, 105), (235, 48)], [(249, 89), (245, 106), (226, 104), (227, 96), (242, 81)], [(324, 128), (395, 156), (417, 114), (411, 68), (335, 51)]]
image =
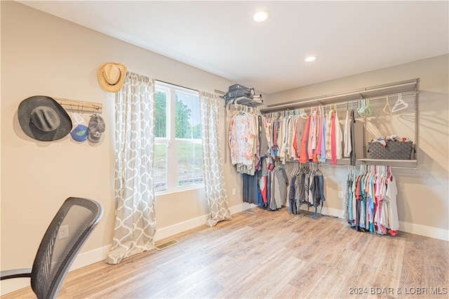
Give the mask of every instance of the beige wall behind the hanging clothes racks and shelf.
[[(401, 221), (401, 230), (427, 235), (433, 234), (434, 237), (439, 236), (448, 239), (448, 57), (449, 55), (441, 55), (404, 65), (379, 69), (374, 72), (273, 93), (269, 95), (270, 104), (420, 78), (419, 170), (393, 170), (398, 182), (398, 217)], [(389, 100), (391, 107), (393, 107), (396, 99)], [(382, 104), (384, 104), (384, 101), (385, 99), (382, 100)], [(341, 108), (345, 111), (346, 107), (340, 107), (340, 123), (343, 123)], [(391, 134), (385, 133), (386, 135), (395, 134), (398, 127), (405, 126), (406, 128), (401, 128), (401, 132), (408, 132), (403, 133), (408, 135), (402, 135), (402, 133), (396, 133), (396, 135), (413, 138), (413, 121), (396, 119), (391, 124), (387, 124), (384, 122), (386, 117), (382, 113), (382, 109), (383, 105), (380, 105), (377, 109), (377, 115), (379, 116), (377, 121), (378, 126), (384, 126), (385, 132), (391, 132)], [(410, 107), (410, 109), (413, 108)], [(408, 116), (410, 120), (411, 114)], [(408, 131), (407, 128), (409, 129)], [(378, 133), (377, 129), (371, 126), (373, 134)], [(382, 135), (377, 135), (377, 137), (382, 137)], [(325, 206), (341, 210), (342, 199), (338, 199), (337, 191), (344, 190), (347, 168), (345, 166), (322, 167), (326, 173)], [(431, 230), (434, 230), (434, 232), (431, 232)]]

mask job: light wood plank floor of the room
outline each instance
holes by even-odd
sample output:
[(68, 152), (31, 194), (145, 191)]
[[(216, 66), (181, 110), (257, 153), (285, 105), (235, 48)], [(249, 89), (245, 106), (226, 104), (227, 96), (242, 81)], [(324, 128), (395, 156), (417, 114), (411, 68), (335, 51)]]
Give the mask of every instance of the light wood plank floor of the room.
[[(403, 232), (377, 237), (310, 215), (252, 208), (177, 234), (179, 243), (162, 251), (70, 272), (58, 297), (449, 297), (448, 241)], [(34, 296), (25, 288), (2, 298)]]

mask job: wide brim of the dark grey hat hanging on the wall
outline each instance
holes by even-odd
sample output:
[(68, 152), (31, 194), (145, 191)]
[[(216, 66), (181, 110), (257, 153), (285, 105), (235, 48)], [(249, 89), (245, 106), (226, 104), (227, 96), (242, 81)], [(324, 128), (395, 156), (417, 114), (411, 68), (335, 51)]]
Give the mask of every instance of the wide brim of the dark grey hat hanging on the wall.
[[(34, 126), (31, 114), (36, 107), (46, 106), (53, 109), (60, 118), (60, 125), (51, 132), (41, 131)], [(55, 141), (67, 136), (72, 130), (72, 119), (58, 102), (45, 95), (34, 95), (20, 102), (18, 107), (18, 119), (20, 128), (29, 137), (39, 141)]]

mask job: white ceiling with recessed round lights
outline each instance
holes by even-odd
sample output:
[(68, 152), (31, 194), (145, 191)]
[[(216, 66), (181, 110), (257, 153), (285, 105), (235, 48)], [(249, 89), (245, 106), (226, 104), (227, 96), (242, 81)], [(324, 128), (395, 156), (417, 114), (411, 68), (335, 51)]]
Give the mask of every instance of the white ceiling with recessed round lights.
[(18, 2), (264, 93), (449, 53), (448, 1)]

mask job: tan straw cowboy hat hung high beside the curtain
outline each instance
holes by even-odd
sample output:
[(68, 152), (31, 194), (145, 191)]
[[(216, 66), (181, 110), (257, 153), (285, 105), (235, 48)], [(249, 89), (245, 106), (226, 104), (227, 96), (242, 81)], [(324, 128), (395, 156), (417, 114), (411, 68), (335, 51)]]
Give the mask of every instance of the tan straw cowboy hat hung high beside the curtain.
[(120, 91), (126, 75), (126, 66), (116, 62), (106, 62), (98, 67), (98, 83), (109, 93)]

